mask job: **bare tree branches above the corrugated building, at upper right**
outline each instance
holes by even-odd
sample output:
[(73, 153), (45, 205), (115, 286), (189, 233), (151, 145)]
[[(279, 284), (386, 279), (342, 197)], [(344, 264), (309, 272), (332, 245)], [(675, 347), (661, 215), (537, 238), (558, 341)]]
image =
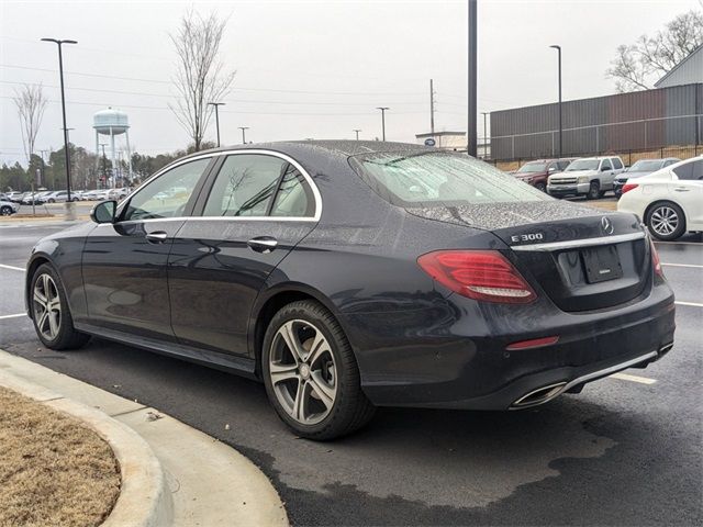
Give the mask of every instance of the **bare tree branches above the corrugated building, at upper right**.
[(621, 93), (648, 90), (702, 44), (703, 10), (691, 10), (654, 36), (641, 35), (635, 44), (618, 46), (605, 75), (615, 79)]

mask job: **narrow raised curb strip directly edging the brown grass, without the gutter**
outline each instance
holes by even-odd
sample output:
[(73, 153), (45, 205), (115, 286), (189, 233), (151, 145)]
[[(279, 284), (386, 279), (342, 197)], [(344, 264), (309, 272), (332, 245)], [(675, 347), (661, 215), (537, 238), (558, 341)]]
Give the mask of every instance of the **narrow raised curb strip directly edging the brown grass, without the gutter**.
[[(0, 368), (5, 367), (4, 357)], [(20, 359), (23, 360), (23, 359)], [(120, 463), (120, 496), (102, 527), (157, 527), (171, 525), (174, 507), (159, 460), (129, 426), (44, 386), (0, 370), (0, 385), (69, 414), (96, 430), (112, 448)]]

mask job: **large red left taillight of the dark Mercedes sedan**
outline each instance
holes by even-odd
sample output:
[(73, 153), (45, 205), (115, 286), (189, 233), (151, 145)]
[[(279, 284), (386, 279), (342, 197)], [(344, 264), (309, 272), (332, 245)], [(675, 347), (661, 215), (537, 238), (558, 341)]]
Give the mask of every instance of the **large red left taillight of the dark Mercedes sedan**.
[(496, 250), (436, 250), (417, 258), (417, 264), (439, 283), (469, 299), (526, 304), (537, 298)]

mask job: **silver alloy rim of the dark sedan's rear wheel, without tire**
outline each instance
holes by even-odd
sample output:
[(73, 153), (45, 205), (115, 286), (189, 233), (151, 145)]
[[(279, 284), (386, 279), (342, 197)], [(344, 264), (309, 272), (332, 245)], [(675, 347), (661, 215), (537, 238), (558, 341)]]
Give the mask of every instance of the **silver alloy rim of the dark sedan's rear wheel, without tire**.
[(298, 423), (323, 421), (337, 396), (337, 367), (323, 333), (303, 319), (288, 321), (276, 332), (269, 354), (276, 399)]

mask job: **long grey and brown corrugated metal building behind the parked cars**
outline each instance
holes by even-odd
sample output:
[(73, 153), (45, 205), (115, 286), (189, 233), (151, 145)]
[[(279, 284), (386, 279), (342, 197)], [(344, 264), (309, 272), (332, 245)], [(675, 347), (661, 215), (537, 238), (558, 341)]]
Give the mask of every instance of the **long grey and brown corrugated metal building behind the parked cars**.
[[(563, 156), (698, 145), (703, 83), (566, 101)], [(556, 157), (558, 103), (491, 113), (492, 158)]]

